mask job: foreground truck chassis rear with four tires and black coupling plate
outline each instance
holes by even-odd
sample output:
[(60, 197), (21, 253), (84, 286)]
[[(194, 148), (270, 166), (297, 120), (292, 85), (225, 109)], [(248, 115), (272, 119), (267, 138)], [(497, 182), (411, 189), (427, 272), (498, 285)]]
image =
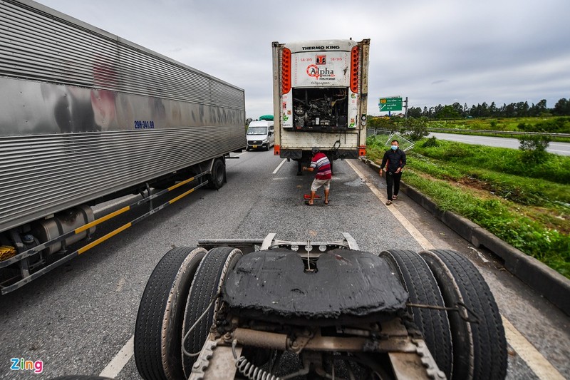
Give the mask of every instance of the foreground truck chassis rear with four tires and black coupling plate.
[[(457, 252), (371, 254), (359, 251), (348, 233), (330, 242), (275, 236), (199, 240), (195, 248), (167, 252), (147, 283), (135, 327), (135, 361), (144, 379), (501, 379), (506, 375), (506, 341), (497, 305), (477, 269)], [(301, 269), (291, 265), (299, 259), (304, 263)], [(283, 260), (290, 261), (275, 264)], [(260, 261), (264, 263), (258, 265)], [(389, 269), (375, 272), (363, 262)], [(360, 304), (360, 299), (327, 299), (330, 307), (312, 308), (319, 303), (319, 289), (328, 291), (328, 286), (314, 287), (309, 302), (298, 302), (306, 289), (321, 285), (321, 280), (313, 282), (318, 278), (314, 273), (326, 277), (327, 271), (346, 264), (371, 282), (378, 281), (376, 274), (388, 273), (390, 289), (387, 285), (384, 290), (398, 298), (401, 287), (405, 302), (396, 306), (398, 302), (390, 304), (391, 296), (382, 296), (384, 309), (378, 309), (366, 301)], [(276, 268), (285, 269), (269, 277), (264, 274)], [(275, 297), (279, 289), (287, 288), (283, 294), (288, 294), (289, 287), (298, 285), (294, 272), (304, 272), (297, 274), (311, 284), (292, 290), (291, 309), (281, 306), (286, 297)], [(342, 287), (343, 279), (336, 272), (333, 276)], [(356, 276), (347, 277), (358, 287)], [(275, 283), (273, 288), (268, 279)], [(382, 284), (383, 279), (379, 281)], [(267, 288), (259, 292), (255, 284)], [(437, 292), (426, 296), (425, 288)], [(332, 312), (338, 304), (345, 310)], [(359, 312), (351, 309), (355, 305), (361, 307)], [(291, 357), (298, 366), (286, 370), (283, 363), (288, 366)]]

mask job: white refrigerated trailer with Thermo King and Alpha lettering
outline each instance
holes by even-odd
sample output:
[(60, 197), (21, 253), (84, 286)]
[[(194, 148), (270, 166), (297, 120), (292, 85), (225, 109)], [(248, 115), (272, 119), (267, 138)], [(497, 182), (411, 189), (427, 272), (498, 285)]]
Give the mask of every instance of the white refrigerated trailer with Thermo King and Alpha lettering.
[(366, 155), (370, 40), (273, 43), (274, 154), (301, 163), (311, 148)]

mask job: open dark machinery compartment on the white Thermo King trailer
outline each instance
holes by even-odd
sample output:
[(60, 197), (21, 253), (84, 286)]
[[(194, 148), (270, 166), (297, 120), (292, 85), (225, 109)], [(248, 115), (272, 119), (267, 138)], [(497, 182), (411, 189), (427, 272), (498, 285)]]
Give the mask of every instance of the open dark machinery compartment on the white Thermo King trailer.
[(348, 88), (293, 88), (293, 130), (348, 128)]

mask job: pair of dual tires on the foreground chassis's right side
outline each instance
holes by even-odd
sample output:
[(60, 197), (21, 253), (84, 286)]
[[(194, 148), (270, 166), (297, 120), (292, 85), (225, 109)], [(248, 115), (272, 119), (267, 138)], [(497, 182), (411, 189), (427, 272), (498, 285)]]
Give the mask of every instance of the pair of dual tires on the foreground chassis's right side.
[(410, 294), (408, 307), (447, 379), (504, 379), (507, 340), (497, 303), (467, 258), (450, 250), (380, 253)]

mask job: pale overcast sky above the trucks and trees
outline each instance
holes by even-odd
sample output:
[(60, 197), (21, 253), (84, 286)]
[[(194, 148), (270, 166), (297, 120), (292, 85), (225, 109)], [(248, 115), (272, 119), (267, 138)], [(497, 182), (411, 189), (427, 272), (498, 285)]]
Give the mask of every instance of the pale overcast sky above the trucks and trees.
[(570, 0), (40, 0), (244, 88), (273, 113), (271, 41), (371, 38), (378, 98), (467, 106), (570, 98)]

